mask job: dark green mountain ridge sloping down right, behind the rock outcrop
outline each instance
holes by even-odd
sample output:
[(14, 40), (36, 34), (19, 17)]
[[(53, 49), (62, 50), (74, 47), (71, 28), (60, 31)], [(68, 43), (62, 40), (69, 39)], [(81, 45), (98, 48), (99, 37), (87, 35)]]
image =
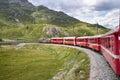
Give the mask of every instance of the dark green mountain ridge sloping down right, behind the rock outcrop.
[(37, 11), (32, 14), (37, 23), (47, 23), (57, 26), (70, 26), (80, 21), (61, 12), (48, 9), (45, 6), (38, 6)]

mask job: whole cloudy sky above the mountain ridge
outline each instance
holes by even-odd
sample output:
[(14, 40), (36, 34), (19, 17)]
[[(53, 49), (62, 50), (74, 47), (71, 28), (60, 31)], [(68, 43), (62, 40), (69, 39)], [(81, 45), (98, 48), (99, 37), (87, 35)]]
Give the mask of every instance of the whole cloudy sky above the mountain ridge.
[(119, 23), (120, 0), (29, 0), (34, 5), (44, 5), (63, 11), (81, 21), (98, 23), (115, 28)]

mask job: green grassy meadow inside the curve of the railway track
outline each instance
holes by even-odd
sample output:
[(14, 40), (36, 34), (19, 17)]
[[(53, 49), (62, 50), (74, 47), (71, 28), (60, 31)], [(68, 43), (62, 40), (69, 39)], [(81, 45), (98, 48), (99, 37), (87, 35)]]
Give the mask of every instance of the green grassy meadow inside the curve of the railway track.
[(61, 80), (87, 80), (89, 64), (84, 52), (67, 47), (27, 45), (15, 49), (2, 46), (0, 80), (51, 80), (58, 72), (66, 72), (63, 77), (57, 75)]

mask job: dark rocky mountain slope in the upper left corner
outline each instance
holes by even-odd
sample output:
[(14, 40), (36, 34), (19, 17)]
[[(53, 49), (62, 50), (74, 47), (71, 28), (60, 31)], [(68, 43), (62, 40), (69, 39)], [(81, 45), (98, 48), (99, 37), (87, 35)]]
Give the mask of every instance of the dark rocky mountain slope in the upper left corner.
[(0, 0), (0, 23), (31, 23), (31, 13), (34, 11), (35, 7), (27, 0)]

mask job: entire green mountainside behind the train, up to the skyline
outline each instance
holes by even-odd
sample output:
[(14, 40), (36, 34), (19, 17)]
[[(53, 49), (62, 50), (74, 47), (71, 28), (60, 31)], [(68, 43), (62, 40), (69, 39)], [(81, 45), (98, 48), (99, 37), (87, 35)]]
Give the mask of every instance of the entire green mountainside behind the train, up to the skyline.
[[(100, 25), (98, 27), (99, 34), (109, 30)], [(95, 34), (95, 24), (79, 21), (64, 12), (45, 6), (35, 7), (27, 0), (0, 0), (0, 39), (33, 41)]]

